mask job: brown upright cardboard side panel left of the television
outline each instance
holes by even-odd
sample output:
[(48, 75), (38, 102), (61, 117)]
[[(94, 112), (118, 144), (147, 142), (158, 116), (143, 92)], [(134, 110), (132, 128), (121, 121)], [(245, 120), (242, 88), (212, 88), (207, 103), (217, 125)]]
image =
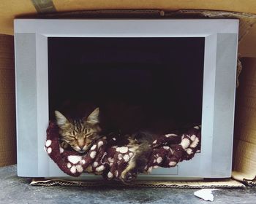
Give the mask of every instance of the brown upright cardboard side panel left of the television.
[(0, 35), (0, 166), (16, 163), (13, 36)]

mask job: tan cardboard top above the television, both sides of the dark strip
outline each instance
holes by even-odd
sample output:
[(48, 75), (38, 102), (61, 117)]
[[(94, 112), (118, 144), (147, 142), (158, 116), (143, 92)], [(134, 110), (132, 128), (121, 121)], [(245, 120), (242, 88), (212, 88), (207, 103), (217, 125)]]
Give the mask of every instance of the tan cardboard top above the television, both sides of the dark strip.
[[(39, 1), (39, 0), (37, 0)], [(169, 0), (53, 0), (57, 12), (90, 9), (210, 9), (232, 12), (249, 12), (256, 14), (255, 0), (194, 0), (194, 1), (169, 1)], [(47, 9), (46, 9), (47, 11)], [(28, 0), (3, 0), (0, 4), (0, 34), (13, 34), (13, 19), (19, 16), (37, 14), (32, 1)]]

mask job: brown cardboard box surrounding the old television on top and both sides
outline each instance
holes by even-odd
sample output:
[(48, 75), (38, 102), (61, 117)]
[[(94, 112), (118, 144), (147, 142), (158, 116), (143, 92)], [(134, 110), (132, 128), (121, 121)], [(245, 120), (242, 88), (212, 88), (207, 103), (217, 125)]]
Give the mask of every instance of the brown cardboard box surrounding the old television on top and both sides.
[[(32, 2), (32, 1), (31, 1)], [(238, 66), (240, 86), (236, 96), (236, 127), (233, 154), (233, 178), (247, 184), (255, 184), (256, 176), (256, 1), (53, 1), (47, 5), (30, 1), (1, 3), (0, 33), (13, 34), (14, 17), (228, 17), (240, 19)], [(35, 1), (33, 1), (35, 2)], [(46, 1), (45, 1), (46, 2)], [(37, 2), (38, 3), (38, 2)], [(49, 4), (48, 4), (49, 5)], [(54, 6), (53, 6), (54, 5)], [(12, 9), (7, 9), (12, 7)], [(45, 8), (45, 10), (44, 10)], [(94, 9), (105, 9), (97, 10)], [(106, 10), (107, 9), (107, 10)], [(111, 9), (111, 10), (108, 10)], [(113, 10), (119, 9), (119, 10)], [(130, 9), (130, 10), (121, 10)], [(147, 9), (147, 10), (143, 10)], [(231, 12), (177, 9), (215, 9)], [(77, 12), (77, 10), (80, 10)], [(42, 13), (53, 12), (48, 15)], [(56, 11), (64, 12), (58, 13)], [(76, 11), (76, 12), (75, 12)], [(40, 15), (37, 15), (40, 12)], [(0, 36), (0, 165), (15, 163), (15, 89), (13, 37)]]

